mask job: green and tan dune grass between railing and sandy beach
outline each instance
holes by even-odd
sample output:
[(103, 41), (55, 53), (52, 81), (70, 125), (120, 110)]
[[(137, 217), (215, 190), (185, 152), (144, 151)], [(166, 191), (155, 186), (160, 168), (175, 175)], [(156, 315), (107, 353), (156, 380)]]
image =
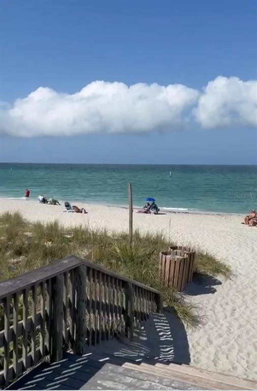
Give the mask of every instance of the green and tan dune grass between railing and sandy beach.
[[(16, 213), (0, 215), (0, 280), (44, 266), (68, 255), (117, 271), (162, 292), (164, 303), (173, 307), (188, 326), (199, 324), (197, 309), (182, 294), (160, 284), (159, 252), (171, 244), (161, 234), (134, 234), (133, 246), (125, 233), (91, 230), (88, 226), (66, 229), (57, 221), (31, 224)], [(229, 277), (231, 269), (207, 253), (198, 252), (196, 271)]]

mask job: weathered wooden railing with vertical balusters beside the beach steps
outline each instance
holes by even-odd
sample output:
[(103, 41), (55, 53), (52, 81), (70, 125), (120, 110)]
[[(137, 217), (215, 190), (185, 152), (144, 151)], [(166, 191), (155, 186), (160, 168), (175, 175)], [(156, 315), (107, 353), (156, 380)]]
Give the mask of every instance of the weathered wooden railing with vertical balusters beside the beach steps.
[(158, 291), (71, 256), (0, 282), (0, 387), (39, 360), (83, 354), (162, 311)]

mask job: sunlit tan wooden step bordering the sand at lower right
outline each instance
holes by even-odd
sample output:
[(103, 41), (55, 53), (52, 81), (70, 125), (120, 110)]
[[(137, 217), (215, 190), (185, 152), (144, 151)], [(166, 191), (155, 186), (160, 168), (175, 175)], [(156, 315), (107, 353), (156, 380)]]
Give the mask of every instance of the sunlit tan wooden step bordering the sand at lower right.
[[(191, 385), (196, 385), (203, 387), (205, 389), (254, 389), (253, 387), (242, 387), (240, 385), (237, 386), (231, 386), (228, 383), (224, 383), (222, 381), (218, 381), (216, 379), (206, 379), (205, 377), (201, 376), (194, 376), (191, 374), (187, 374), (181, 371), (177, 371), (173, 368), (170, 368), (168, 365), (164, 364), (156, 364), (155, 366), (151, 366), (148, 364), (140, 364), (139, 366), (131, 363), (125, 363), (123, 364), (122, 367), (125, 368), (131, 368), (134, 369), (135, 371), (142, 371), (145, 373), (155, 373), (158, 376), (164, 376), (167, 379), (172, 379), (172, 380), (178, 380), (182, 382), (189, 383)], [(179, 367), (179, 366), (178, 366)]]

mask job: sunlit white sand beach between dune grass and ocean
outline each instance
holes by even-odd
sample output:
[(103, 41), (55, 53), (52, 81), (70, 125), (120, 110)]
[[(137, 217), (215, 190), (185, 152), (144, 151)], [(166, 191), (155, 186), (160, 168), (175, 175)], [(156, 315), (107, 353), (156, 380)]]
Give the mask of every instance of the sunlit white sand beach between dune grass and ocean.
[[(63, 212), (62, 206), (29, 200), (0, 199), (0, 213), (20, 211), (30, 221), (58, 220), (66, 227), (125, 231), (128, 211), (118, 207), (83, 205), (88, 214)], [(202, 294), (188, 295), (199, 306), (203, 324), (187, 330), (191, 365), (210, 371), (257, 378), (257, 229), (241, 224), (240, 215), (134, 213), (134, 228), (162, 232), (179, 244), (207, 250), (232, 266), (231, 280), (206, 287)], [(194, 284), (191, 293), (194, 293)], [(211, 292), (211, 288), (213, 293)], [(201, 292), (200, 292), (201, 293)]]

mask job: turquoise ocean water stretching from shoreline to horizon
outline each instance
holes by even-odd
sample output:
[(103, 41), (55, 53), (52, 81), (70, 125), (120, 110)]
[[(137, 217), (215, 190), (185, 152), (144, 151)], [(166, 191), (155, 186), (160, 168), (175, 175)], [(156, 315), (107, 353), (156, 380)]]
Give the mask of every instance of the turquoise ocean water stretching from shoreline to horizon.
[(154, 197), (167, 211), (246, 213), (257, 209), (256, 179), (256, 165), (0, 163), (0, 197), (22, 198), (28, 187), (33, 199), (126, 206), (131, 182), (135, 206)]

